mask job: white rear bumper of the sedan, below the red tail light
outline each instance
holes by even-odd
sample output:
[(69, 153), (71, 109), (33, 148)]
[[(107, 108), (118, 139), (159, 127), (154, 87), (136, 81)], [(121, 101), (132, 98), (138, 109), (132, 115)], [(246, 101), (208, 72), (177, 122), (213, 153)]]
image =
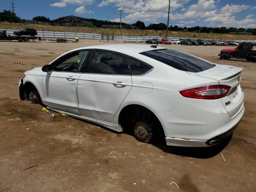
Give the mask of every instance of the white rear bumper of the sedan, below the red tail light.
[(182, 98), (172, 110), (156, 114), (167, 145), (206, 147), (222, 142), (233, 132), (244, 114), (244, 104), (230, 118), (221, 100)]

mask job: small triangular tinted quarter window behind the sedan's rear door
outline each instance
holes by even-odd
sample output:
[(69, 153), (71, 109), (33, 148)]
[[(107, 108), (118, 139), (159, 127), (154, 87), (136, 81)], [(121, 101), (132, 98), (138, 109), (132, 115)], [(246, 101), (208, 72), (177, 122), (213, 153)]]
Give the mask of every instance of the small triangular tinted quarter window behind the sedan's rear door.
[(132, 75), (142, 75), (153, 68), (144, 62), (139, 62), (130, 58), (128, 58), (128, 63), (130, 65)]

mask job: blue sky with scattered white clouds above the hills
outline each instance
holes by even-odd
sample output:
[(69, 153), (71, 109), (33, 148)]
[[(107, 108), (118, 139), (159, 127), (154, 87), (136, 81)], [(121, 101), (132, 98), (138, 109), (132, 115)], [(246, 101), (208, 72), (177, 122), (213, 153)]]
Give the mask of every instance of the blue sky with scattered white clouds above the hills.
[[(11, 0), (1, 0), (0, 10), (11, 10)], [(75, 15), (146, 26), (167, 21), (168, 0), (14, 0), (15, 12), (31, 20), (43, 15), (51, 20)], [(176, 23), (177, 22), (177, 23)], [(256, 28), (256, 0), (172, 0), (170, 24)]]

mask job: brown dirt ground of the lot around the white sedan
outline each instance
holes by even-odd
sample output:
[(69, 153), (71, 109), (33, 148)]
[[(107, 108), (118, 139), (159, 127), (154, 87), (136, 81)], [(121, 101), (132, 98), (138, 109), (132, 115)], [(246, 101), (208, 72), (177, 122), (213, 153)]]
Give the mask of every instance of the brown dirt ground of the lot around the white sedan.
[(82, 120), (51, 117), (54, 112), (20, 101), (18, 83), (26, 70), (73, 48), (108, 43), (82, 41), (0, 42), (0, 191), (256, 191), (256, 63), (219, 60), (223, 46), (166, 45), (218, 64), (243, 67), (245, 114), (232, 138), (218, 146), (145, 144)]

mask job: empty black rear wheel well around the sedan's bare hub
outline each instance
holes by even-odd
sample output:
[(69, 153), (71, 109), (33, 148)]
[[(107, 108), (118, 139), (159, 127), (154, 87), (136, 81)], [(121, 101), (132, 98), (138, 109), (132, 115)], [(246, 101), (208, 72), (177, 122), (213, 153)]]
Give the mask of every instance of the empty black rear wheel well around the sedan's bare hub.
[(144, 106), (137, 104), (125, 106), (118, 117), (118, 122), (124, 128), (124, 131), (133, 130), (133, 126), (138, 120), (152, 124), (158, 137), (165, 136), (161, 122), (152, 111)]

